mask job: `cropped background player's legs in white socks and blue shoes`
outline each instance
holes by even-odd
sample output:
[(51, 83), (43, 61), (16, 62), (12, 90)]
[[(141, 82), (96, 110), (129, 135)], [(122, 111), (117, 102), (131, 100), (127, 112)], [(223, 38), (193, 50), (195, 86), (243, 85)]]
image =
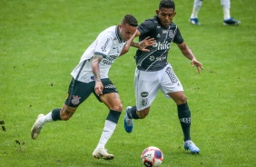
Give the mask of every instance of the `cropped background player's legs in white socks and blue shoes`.
[[(221, 5), (223, 9), (223, 25), (239, 25), (241, 24), (240, 20), (235, 20), (231, 17), (231, 1), (230, 0), (221, 0)], [(202, 0), (194, 0), (192, 6), (192, 15), (189, 19), (192, 25), (201, 25), (198, 20), (198, 13), (202, 6)]]

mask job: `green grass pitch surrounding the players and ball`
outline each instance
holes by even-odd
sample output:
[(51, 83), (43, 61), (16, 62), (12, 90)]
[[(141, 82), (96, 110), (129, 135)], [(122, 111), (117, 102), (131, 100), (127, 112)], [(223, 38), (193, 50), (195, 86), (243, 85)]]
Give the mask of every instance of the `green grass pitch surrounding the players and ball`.
[[(70, 73), (97, 34), (126, 14), (142, 23), (155, 14), (159, 0), (1, 0), (0, 166), (139, 167), (151, 145), (164, 153), (162, 167), (256, 166), (255, 2), (231, 1), (239, 26), (222, 25), (220, 0), (203, 2), (201, 26), (188, 22), (192, 1), (175, 2), (173, 22), (204, 67), (196, 74), (172, 44), (168, 62), (188, 97), (200, 154), (183, 150), (176, 105), (162, 93), (147, 118), (134, 122), (133, 133), (123, 130), (122, 113), (106, 145), (113, 161), (92, 157), (108, 113), (94, 96), (68, 122), (46, 123), (37, 140), (30, 137), (39, 113), (62, 107)], [(124, 108), (135, 103), (134, 53), (130, 49), (110, 70)]]

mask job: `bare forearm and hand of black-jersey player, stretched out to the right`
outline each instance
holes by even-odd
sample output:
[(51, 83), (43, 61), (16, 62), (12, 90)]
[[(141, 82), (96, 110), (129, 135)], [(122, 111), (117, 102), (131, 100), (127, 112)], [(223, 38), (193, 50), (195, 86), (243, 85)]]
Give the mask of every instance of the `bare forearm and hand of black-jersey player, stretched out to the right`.
[(177, 45), (182, 51), (182, 54), (191, 60), (192, 67), (196, 66), (196, 73), (200, 74), (200, 70), (203, 70), (202, 64), (197, 61), (194, 54), (192, 54), (192, 50), (189, 48), (189, 46), (185, 42)]

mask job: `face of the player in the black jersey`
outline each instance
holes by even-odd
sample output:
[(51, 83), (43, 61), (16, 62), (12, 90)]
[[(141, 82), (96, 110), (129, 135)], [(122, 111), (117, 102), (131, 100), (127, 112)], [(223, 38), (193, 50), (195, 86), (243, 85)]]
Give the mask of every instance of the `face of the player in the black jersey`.
[(160, 10), (156, 10), (156, 15), (158, 15), (161, 24), (167, 27), (171, 24), (176, 12), (173, 10), (173, 8), (161, 8)]

